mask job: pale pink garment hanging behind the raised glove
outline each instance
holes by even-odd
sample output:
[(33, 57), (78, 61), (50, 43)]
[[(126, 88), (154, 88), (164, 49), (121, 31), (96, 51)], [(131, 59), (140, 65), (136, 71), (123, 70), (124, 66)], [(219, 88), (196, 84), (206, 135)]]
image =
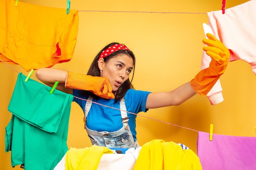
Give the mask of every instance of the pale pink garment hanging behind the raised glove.
[[(243, 60), (249, 63), (256, 74), (256, 0), (235, 7), (208, 12), (209, 26), (213, 34), (231, 52), (229, 61)], [(209, 67), (211, 58), (203, 52), (201, 69)], [(220, 81), (207, 94), (212, 105), (223, 101)]]

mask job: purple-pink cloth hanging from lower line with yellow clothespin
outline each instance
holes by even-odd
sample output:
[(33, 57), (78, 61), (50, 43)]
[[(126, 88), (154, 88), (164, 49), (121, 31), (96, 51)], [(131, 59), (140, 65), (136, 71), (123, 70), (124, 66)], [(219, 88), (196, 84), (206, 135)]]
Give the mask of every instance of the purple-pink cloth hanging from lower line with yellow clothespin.
[(202, 170), (256, 170), (256, 137), (198, 132), (197, 147)]

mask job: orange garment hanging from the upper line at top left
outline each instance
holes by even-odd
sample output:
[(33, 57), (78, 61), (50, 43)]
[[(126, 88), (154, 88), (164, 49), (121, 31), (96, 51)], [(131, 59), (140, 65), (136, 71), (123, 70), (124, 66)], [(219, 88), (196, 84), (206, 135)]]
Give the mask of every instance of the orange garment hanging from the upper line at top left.
[[(78, 11), (0, 1), (0, 59), (26, 71), (72, 59)], [(2, 63), (2, 62), (1, 62)]]

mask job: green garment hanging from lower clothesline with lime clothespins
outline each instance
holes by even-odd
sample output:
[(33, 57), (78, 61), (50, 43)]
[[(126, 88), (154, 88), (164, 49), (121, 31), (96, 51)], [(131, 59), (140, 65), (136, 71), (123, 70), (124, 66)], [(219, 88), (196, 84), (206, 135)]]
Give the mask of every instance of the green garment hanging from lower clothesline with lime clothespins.
[[(19, 3), (20, 4), (20, 3)], [(11, 166), (26, 170), (52, 170), (67, 152), (67, 132), (73, 95), (54, 90), (18, 74), (8, 110), (5, 151)]]

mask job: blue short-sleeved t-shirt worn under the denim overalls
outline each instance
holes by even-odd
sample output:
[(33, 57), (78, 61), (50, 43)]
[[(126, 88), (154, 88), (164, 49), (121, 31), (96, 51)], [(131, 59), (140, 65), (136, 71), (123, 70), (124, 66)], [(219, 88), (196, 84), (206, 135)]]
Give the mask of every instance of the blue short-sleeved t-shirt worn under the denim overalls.
[[(124, 96), (126, 111), (128, 112), (127, 115), (129, 117), (128, 124), (134, 139), (136, 139), (135, 119), (137, 117), (137, 113), (141, 111), (146, 112), (148, 110), (146, 109), (146, 101), (149, 93), (150, 92), (148, 91), (129, 89)], [(73, 95), (75, 96), (73, 101), (79, 104), (84, 112), (86, 100), (83, 99), (88, 99), (88, 95), (84, 95), (84, 93), (81, 93), (81, 90), (76, 89), (73, 90)], [(78, 99), (76, 97), (82, 99)], [(115, 102), (115, 99), (94, 98), (92, 102), (96, 102), (104, 106), (92, 103), (86, 121), (86, 126), (90, 130), (96, 130), (98, 132), (115, 132), (123, 127), (121, 121), (120, 101)]]

